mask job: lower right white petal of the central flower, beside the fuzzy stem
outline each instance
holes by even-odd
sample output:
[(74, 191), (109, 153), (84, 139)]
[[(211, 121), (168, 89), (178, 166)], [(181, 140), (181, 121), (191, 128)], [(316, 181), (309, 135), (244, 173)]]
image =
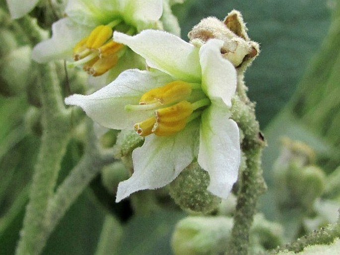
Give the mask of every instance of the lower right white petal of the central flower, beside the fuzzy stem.
[(237, 180), (241, 155), (239, 129), (229, 116), (225, 107), (212, 104), (202, 114), (200, 130), (198, 162), (210, 176), (207, 190), (221, 198)]

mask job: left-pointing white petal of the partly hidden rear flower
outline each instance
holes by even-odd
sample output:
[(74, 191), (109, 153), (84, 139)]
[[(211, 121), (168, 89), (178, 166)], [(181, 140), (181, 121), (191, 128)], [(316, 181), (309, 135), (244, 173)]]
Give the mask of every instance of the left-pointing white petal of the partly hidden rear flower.
[(32, 52), (32, 59), (38, 63), (69, 59), (76, 43), (91, 32), (92, 28), (63, 18), (53, 23), (52, 38), (38, 43)]

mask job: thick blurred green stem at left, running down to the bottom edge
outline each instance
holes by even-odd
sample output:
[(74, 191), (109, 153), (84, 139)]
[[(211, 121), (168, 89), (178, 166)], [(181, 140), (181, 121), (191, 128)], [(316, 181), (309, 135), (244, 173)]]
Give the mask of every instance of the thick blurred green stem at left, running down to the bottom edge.
[(45, 212), (54, 193), (60, 163), (70, 138), (69, 113), (63, 106), (58, 77), (53, 64), (40, 65), (40, 92), (43, 134), (34, 169), (29, 203), (16, 254), (40, 254), (45, 242)]

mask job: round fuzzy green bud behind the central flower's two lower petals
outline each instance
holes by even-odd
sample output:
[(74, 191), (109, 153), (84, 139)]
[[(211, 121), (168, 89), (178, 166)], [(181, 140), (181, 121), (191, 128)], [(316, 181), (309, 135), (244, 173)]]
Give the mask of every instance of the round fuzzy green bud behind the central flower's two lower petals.
[(209, 174), (193, 162), (170, 183), (169, 193), (183, 210), (207, 214), (221, 202), (221, 198), (206, 190), (209, 181)]

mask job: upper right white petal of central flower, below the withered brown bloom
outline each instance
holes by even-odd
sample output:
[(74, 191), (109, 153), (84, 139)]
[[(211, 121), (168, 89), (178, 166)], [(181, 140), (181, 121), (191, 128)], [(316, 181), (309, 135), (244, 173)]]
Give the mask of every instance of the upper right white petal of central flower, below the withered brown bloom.
[(200, 49), (202, 88), (211, 100), (221, 98), (231, 106), (231, 97), (236, 90), (236, 69), (222, 58), (222, 45), (223, 41), (211, 39)]

